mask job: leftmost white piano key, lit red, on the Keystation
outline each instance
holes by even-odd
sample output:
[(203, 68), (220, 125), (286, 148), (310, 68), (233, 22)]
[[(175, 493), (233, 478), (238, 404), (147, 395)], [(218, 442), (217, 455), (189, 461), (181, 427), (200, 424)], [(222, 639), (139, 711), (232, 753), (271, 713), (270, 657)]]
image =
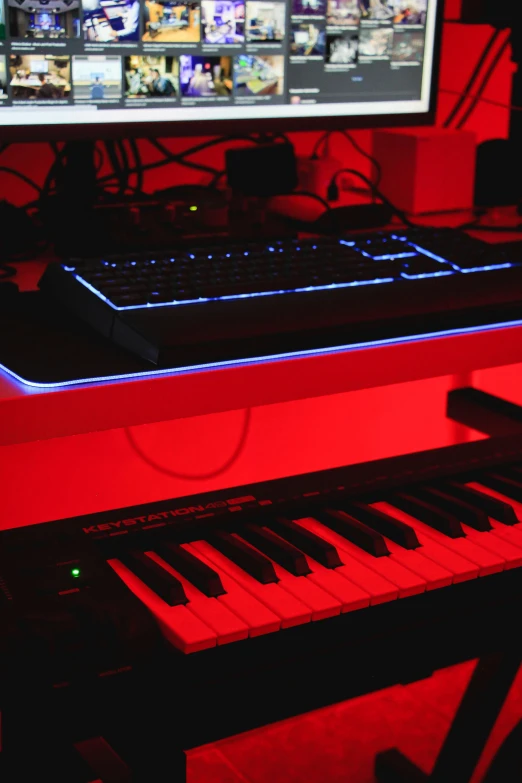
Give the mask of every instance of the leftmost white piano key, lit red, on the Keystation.
[(169, 606), (120, 560), (108, 560), (108, 563), (129, 590), (152, 612), (163, 635), (174, 647), (188, 654), (216, 646), (215, 631), (192, 614), (186, 606)]

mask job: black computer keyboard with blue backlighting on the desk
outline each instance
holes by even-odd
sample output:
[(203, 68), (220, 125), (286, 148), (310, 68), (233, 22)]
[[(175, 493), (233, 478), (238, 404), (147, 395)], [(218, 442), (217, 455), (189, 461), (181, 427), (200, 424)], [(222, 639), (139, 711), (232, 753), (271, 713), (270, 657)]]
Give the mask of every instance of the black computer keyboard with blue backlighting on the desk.
[(188, 346), (198, 358), (238, 358), (392, 335), (391, 321), (522, 300), (518, 282), (522, 243), (419, 228), (69, 260), (48, 267), (40, 288), (162, 364)]

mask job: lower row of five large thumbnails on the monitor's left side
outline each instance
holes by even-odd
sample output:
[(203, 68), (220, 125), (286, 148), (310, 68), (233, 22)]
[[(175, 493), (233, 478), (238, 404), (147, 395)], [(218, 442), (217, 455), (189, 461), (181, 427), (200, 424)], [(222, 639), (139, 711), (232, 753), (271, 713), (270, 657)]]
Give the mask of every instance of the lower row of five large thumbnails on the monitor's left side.
[(94, 103), (100, 107), (198, 100), (281, 98), (282, 55), (10, 55), (0, 56), (0, 101)]

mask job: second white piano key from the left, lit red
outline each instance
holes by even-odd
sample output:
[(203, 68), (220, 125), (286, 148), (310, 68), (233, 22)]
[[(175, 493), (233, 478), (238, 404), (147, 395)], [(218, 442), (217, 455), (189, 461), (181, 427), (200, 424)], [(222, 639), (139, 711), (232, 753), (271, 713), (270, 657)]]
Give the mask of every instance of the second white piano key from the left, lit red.
[(248, 638), (248, 625), (221, 603), (219, 597), (208, 598), (156, 552), (147, 552), (147, 555), (181, 582), (188, 598), (187, 608), (216, 633), (218, 644)]

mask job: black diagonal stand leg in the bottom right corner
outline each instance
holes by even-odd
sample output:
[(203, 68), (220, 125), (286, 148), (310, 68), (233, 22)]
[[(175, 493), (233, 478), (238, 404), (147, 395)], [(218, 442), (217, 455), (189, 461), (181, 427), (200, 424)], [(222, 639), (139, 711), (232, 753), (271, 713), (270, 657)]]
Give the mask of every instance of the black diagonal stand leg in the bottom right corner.
[[(397, 748), (392, 748), (377, 754), (375, 758), (375, 777), (378, 782), (469, 783), (521, 663), (520, 649), (480, 658), (431, 775), (420, 770)], [(515, 730), (515, 738), (520, 732), (521, 724)], [(493, 761), (490, 773), (497, 763), (503, 763), (502, 751), (503, 748)], [(489, 779), (490, 783), (498, 783), (505, 780), (490, 777), (490, 773), (485, 781)]]

